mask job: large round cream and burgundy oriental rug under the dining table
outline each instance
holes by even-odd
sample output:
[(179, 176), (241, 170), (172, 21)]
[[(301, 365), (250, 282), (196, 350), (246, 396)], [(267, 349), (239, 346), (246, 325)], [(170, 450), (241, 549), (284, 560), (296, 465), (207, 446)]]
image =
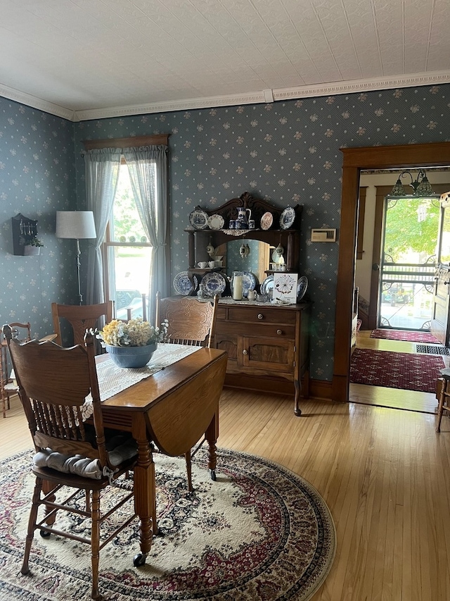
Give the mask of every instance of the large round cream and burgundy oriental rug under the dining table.
[[(0, 599), (90, 599), (89, 545), (34, 533), (31, 574), (20, 574), (34, 478), (32, 452), (0, 467)], [(137, 521), (100, 553), (100, 593), (108, 601), (306, 601), (325, 580), (335, 554), (335, 527), (319, 493), (267, 459), (219, 449), (217, 481), (200, 450), (189, 494), (183, 458), (155, 454), (158, 524), (146, 564)], [(120, 494), (110, 488), (102, 497)], [(127, 516), (124, 506), (122, 519)], [(120, 512), (118, 512), (120, 514)], [(110, 519), (121, 519), (113, 514)], [(82, 517), (57, 516), (82, 533)]]

